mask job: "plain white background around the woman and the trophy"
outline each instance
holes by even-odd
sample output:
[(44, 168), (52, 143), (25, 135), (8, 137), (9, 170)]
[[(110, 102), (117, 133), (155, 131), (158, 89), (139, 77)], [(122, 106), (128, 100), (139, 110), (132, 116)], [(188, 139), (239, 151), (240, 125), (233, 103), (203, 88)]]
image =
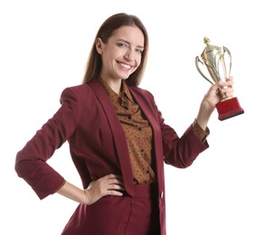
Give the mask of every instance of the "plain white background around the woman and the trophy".
[[(40, 201), (14, 172), (16, 153), (60, 107), (62, 89), (81, 83), (100, 24), (136, 14), (150, 40), (141, 87), (156, 98), (166, 123), (182, 135), (210, 86), (194, 66), (204, 36), (232, 52), (235, 96), (245, 113), (219, 121), (210, 148), (187, 169), (166, 166), (168, 235), (255, 235), (255, 22), (253, 1), (1, 0), (0, 234), (60, 234), (77, 203)], [(81, 186), (68, 145), (49, 161)]]

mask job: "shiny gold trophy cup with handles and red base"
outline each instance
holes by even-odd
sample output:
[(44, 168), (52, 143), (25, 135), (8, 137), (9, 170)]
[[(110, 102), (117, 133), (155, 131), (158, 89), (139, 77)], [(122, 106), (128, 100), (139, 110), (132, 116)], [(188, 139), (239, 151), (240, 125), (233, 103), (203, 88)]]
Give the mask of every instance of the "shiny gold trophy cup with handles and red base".
[[(204, 37), (204, 43), (206, 44), (206, 47), (204, 48), (201, 57), (195, 57), (197, 71), (199, 71), (204, 79), (208, 80), (211, 84), (214, 84), (219, 80), (227, 80), (230, 77), (232, 67), (231, 52), (224, 46), (219, 47), (210, 45), (210, 40), (207, 37)], [(205, 67), (207, 70), (205, 70)], [(204, 72), (202, 71), (203, 69)], [(205, 71), (208, 72), (210, 76), (205, 76)], [(216, 104), (219, 114), (218, 118), (221, 121), (244, 113), (236, 97), (227, 97), (225, 93), (221, 93), (221, 95), (221, 102)]]

